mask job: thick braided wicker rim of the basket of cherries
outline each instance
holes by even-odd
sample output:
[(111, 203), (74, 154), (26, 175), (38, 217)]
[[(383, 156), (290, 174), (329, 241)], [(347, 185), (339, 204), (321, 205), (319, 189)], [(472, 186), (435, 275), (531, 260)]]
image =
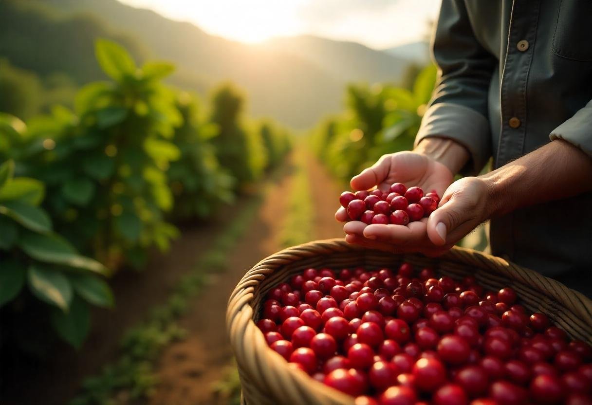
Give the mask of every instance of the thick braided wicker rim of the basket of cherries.
[[(375, 252), (377, 255), (396, 255), (403, 261), (405, 261), (407, 257), (422, 256), (418, 253), (384, 252), (382, 250), (371, 249), (365, 246), (351, 245), (350, 243), (345, 242), (345, 239), (336, 238), (315, 240), (301, 245), (291, 246), (262, 259), (246, 272), (229, 298), (227, 308), (227, 332), (230, 336), (231, 345), (237, 357), (237, 362), (245, 360), (245, 358), (242, 358), (239, 353), (246, 353), (246, 351), (248, 351), (248, 360), (251, 362), (260, 362), (260, 364), (265, 364), (265, 367), (274, 368), (276, 371), (277, 367), (281, 367), (282, 374), (285, 374), (290, 381), (297, 382), (298, 384), (305, 384), (309, 387), (310, 391), (314, 391), (314, 393), (317, 394), (314, 398), (317, 400), (316, 403), (353, 404), (352, 397), (346, 396), (345, 394), (340, 393), (340, 391), (319, 383), (302, 371), (288, 367), (284, 358), (269, 349), (265, 342), (265, 338), (263, 337), (263, 333), (260, 332), (253, 321), (253, 316), (256, 316), (256, 314), (252, 307), (259, 284), (279, 268), (314, 256), (348, 252)], [(481, 269), (495, 270), (504, 277), (523, 283), (529, 287), (539, 287), (541, 293), (546, 294), (551, 300), (568, 308), (576, 316), (582, 317), (583, 319), (592, 319), (592, 301), (585, 297), (584, 294), (571, 290), (560, 282), (545, 277), (531, 269), (506, 261), (506, 259), (488, 255), (487, 253), (477, 252), (476, 250), (454, 246), (435, 260), (461, 263), (465, 266), (468, 262), (469, 264), (473, 263)], [(248, 348), (244, 346), (245, 342), (243, 341), (243, 338), (245, 335), (249, 335), (250, 339)], [(590, 340), (592, 340), (592, 336), (590, 337)], [(260, 351), (256, 349), (259, 345), (264, 345), (266, 350)], [(280, 365), (278, 366), (278, 364)], [(246, 365), (242, 364), (242, 366), (246, 368)], [(260, 369), (257, 371), (260, 371)], [(277, 376), (276, 378), (279, 379), (279, 375), (275, 375)], [(267, 384), (270, 384), (269, 381)], [(318, 396), (318, 394), (321, 394), (321, 396)]]

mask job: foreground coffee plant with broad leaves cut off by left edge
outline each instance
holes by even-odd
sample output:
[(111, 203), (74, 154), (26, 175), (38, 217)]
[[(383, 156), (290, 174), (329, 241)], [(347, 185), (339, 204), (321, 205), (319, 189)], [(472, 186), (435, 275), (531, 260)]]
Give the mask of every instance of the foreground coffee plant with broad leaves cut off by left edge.
[(108, 271), (52, 231), (50, 217), (39, 207), (44, 195), (41, 181), (14, 178), (12, 160), (0, 165), (0, 311), (7, 320), (2, 338), (20, 340), (21, 328), (12, 327), (12, 320), (22, 321), (32, 307), (24, 296), (32, 294), (35, 304), (46, 304), (43, 311), (49, 310), (57, 334), (79, 347), (90, 327), (89, 304), (113, 304), (102, 278)]

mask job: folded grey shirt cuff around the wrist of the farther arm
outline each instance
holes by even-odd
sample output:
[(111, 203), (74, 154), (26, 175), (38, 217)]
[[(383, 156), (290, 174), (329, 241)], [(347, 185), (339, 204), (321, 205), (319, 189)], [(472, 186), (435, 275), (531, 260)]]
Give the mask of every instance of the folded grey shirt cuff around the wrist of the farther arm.
[(464, 105), (442, 102), (427, 109), (415, 146), (429, 137), (452, 139), (466, 147), (471, 155), (461, 173), (477, 175), (491, 156), (490, 131), (489, 121), (479, 112)]

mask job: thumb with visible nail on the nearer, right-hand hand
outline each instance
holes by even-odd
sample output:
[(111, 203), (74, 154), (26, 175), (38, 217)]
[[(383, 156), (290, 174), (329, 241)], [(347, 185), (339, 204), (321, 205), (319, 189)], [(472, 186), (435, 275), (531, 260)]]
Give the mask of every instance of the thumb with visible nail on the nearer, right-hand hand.
[(438, 207), (427, 219), (427, 237), (436, 246), (446, 245), (451, 233), (465, 223), (467, 207), (458, 194), (445, 195)]

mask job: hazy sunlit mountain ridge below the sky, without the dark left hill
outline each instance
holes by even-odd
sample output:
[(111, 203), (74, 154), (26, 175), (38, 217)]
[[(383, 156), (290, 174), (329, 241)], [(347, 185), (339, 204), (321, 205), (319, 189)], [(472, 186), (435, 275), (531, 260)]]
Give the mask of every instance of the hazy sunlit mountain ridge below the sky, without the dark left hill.
[(295, 128), (340, 111), (347, 83), (397, 82), (408, 63), (362, 44), (314, 36), (243, 44), (116, 0), (41, 2), (66, 15), (92, 14), (113, 30), (139, 38), (153, 59), (176, 64), (174, 85), (204, 94), (232, 81), (247, 92), (251, 114)]

